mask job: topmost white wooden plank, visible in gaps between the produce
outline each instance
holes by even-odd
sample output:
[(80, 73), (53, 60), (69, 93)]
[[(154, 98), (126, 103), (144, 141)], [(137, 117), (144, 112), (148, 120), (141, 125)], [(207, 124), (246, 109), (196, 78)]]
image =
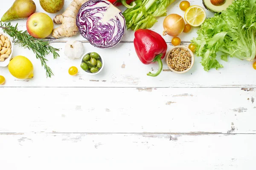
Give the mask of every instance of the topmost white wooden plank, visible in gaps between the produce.
[[(9, 1), (6, 1), (5, 2), (5, 7), (2, 7), (1, 10), (0, 10), (0, 16), (2, 16), (5, 11), (9, 8), (9, 6), (12, 6), (12, 3), (14, 2), (15, 0), (9, 0)], [(64, 3), (64, 7), (62, 8), (61, 11), (59, 11), (58, 13), (56, 14), (50, 14), (50, 13), (47, 13), (43, 10), (43, 8), (41, 8), (40, 6), (40, 3), (39, 3), (39, 0), (34, 0), (35, 4), (36, 4), (36, 7), (37, 7), (37, 10), (36, 12), (44, 12), (44, 13), (47, 13), (51, 18), (54, 18), (57, 14), (62, 14), (64, 12), (64, 10), (67, 8), (67, 6), (69, 6), (70, 2), (72, 0), (65, 0), (65, 3)], [(190, 0), (189, 1), (191, 5), (199, 5), (199, 6), (203, 6), (202, 4), (202, 1), (201, 0)], [(180, 10), (179, 8), (179, 3), (180, 1), (179, 0), (176, 0), (175, 3), (173, 3), (171, 6), (169, 6), (167, 8), (167, 14), (172, 14), (172, 13), (175, 13), (175, 14), (179, 14), (180, 16), (184, 16), (184, 11)], [(122, 11), (125, 10), (125, 7), (121, 6), (121, 7), (118, 7), (120, 8)], [(207, 17), (211, 17), (213, 16), (214, 13), (206, 10), (207, 12)], [(154, 24), (154, 26), (151, 28), (152, 30), (154, 31), (157, 31), (159, 34), (162, 34), (163, 32), (163, 20), (164, 20), (165, 17), (158, 17), (157, 20), (158, 22)], [(26, 20), (15, 20), (15, 21), (12, 21), (11, 23), (13, 25), (16, 25), (17, 22), (19, 23), (18, 24), (18, 28), (20, 30), (26, 30)], [(57, 24), (55, 24), (55, 28), (58, 27)], [(180, 39), (183, 41), (183, 42), (187, 42), (187, 41), (190, 41), (193, 37), (196, 37), (197, 34), (196, 34), (196, 31), (197, 31), (198, 28), (193, 28), (191, 32), (189, 33), (183, 33), (180, 35)], [(167, 42), (171, 42), (171, 38), (170, 36), (164, 36), (164, 39), (167, 41)], [(81, 41), (87, 41), (86, 39), (84, 39), (81, 35), (77, 35), (73, 38), (67, 38), (67, 37), (63, 37), (63, 38), (60, 38), (58, 40), (53, 40), (53, 41), (68, 41), (68, 40), (72, 40), (72, 39), (76, 39), (76, 40), (81, 40)], [(132, 30), (126, 30), (125, 31), (125, 35), (124, 37), (122, 38), (122, 41), (133, 41), (134, 40), (134, 31)], [(117, 49), (117, 48), (116, 48)]]

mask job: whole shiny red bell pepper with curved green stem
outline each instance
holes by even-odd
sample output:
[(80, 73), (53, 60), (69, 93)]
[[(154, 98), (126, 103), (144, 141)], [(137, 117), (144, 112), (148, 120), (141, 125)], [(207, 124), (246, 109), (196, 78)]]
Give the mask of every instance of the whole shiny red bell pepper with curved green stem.
[(151, 64), (157, 61), (159, 68), (154, 74), (149, 72), (148, 76), (156, 77), (160, 74), (163, 68), (162, 59), (165, 57), (167, 44), (163, 37), (149, 29), (138, 29), (134, 33), (134, 47), (143, 64)]

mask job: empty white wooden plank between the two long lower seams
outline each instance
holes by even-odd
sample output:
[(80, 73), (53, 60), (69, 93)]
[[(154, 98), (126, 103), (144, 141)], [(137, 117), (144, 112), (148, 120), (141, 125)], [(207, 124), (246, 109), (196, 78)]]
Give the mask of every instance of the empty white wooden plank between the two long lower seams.
[(0, 88), (0, 133), (255, 133), (241, 88)]

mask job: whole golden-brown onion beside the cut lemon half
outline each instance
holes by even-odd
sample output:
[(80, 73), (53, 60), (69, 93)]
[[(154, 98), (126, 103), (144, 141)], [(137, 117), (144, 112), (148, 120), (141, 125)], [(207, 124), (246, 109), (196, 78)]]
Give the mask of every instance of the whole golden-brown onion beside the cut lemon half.
[(185, 21), (183, 17), (178, 14), (169, 14), (163, 20), (163, 35), (176, 37), (180, 35), (185, 28)]

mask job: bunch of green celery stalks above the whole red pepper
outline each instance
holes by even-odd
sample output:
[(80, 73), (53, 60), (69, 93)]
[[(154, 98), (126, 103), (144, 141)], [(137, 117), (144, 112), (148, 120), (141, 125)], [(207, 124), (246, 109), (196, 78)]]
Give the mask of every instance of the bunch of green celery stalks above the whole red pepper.
[(157, 22), (156, 17), (166, 16), (166, 8), (175, 0), (136, 0), (134, 8), (126, 9), (122, 14), (127, 28), (151, 28)]

